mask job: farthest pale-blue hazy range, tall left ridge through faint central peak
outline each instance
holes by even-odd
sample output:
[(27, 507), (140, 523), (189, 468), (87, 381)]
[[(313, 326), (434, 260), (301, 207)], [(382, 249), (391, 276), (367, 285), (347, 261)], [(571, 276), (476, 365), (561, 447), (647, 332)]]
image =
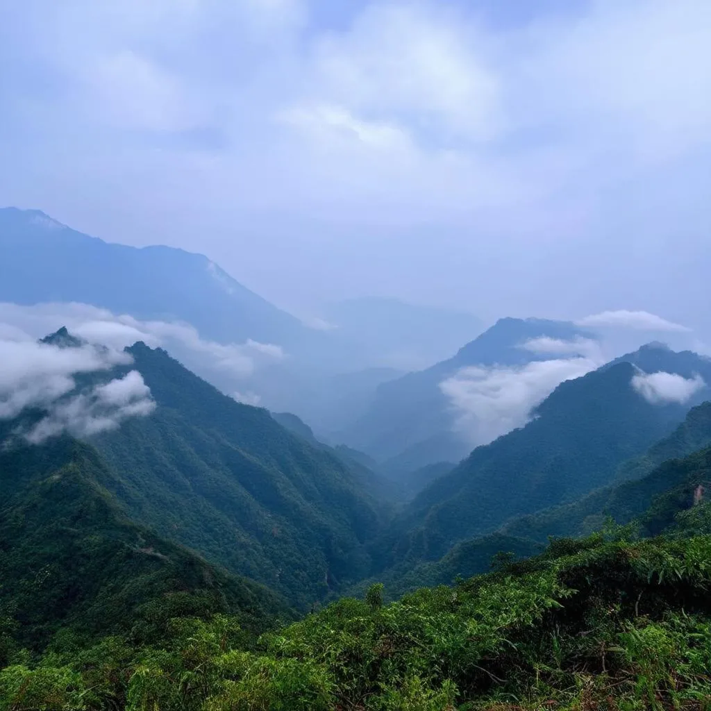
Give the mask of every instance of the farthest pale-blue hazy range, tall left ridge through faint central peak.
[(171, 342), (176, 355), (220, 389), (252, 393), (270, 409), (296, 411), (324, 432), (340, 430), (365, 412), (385, 380), (479, 331), (470, 314), (395, 299), (332, 304), (332, 324), (306, 326), (204, 255), (112, 244), (41, 210), (17, 208), (0, 208), (0, 302), (89, 304), (115, 316), (188, 324), (218, 346), (278, 348), (284, 358), (264, 363), (245, 382), (205, 362), (205, 350), (214, 345), (196, 353)]

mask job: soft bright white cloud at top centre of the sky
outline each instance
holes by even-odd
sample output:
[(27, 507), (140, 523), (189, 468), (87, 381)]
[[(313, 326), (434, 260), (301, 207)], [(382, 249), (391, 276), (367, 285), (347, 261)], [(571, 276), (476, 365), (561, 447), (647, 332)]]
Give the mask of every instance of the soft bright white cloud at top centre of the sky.
[[(465, 14), (434, 4), (370, 4), (348, 31), (314, 46), (320, 92), (366, 115), (475, 139), (502, 129), (499, 77), (483, 32)], [(482, 51), (483, 50), (483, 51)]]

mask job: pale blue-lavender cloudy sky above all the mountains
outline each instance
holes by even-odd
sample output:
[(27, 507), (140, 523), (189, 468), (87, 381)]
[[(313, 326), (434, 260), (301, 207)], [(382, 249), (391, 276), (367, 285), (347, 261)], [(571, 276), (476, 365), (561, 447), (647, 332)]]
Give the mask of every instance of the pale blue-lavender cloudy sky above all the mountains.
[(0, 205), (317, 315), (711, 333), (708, 0), (0, 4)]

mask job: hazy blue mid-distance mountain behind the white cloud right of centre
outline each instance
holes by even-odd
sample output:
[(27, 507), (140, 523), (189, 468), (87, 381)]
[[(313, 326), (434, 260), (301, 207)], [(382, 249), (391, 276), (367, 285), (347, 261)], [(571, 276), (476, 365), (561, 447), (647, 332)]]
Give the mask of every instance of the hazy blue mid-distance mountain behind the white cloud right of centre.
[(456, 432), (442, 381), (469, 366), (520, 366), (550, 357), (521, 347), (543, 336), (572, 341), (589, 334), (563, 321), (501, 319), (452, 358), (380, 385), (368, 411), (339, 433), (341, 439), (375, 457), (396, 479), (420, 466), (459, 461), (471, 445)]

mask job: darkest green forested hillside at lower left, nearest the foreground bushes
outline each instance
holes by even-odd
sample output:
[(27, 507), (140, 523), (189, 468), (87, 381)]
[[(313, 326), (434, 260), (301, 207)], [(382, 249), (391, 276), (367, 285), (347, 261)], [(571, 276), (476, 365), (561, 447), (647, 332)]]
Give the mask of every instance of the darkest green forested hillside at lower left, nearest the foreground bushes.
[(148, 641), (181, 615), (235, 614), (253, 630), (291, 615), (266, 588), (132, 523), (109, 493), (124, 483), (92, 447), (65, 437), (4, 448), (0, 471), (0, 620), (22, 644), (41, 648), (60, 630)]

